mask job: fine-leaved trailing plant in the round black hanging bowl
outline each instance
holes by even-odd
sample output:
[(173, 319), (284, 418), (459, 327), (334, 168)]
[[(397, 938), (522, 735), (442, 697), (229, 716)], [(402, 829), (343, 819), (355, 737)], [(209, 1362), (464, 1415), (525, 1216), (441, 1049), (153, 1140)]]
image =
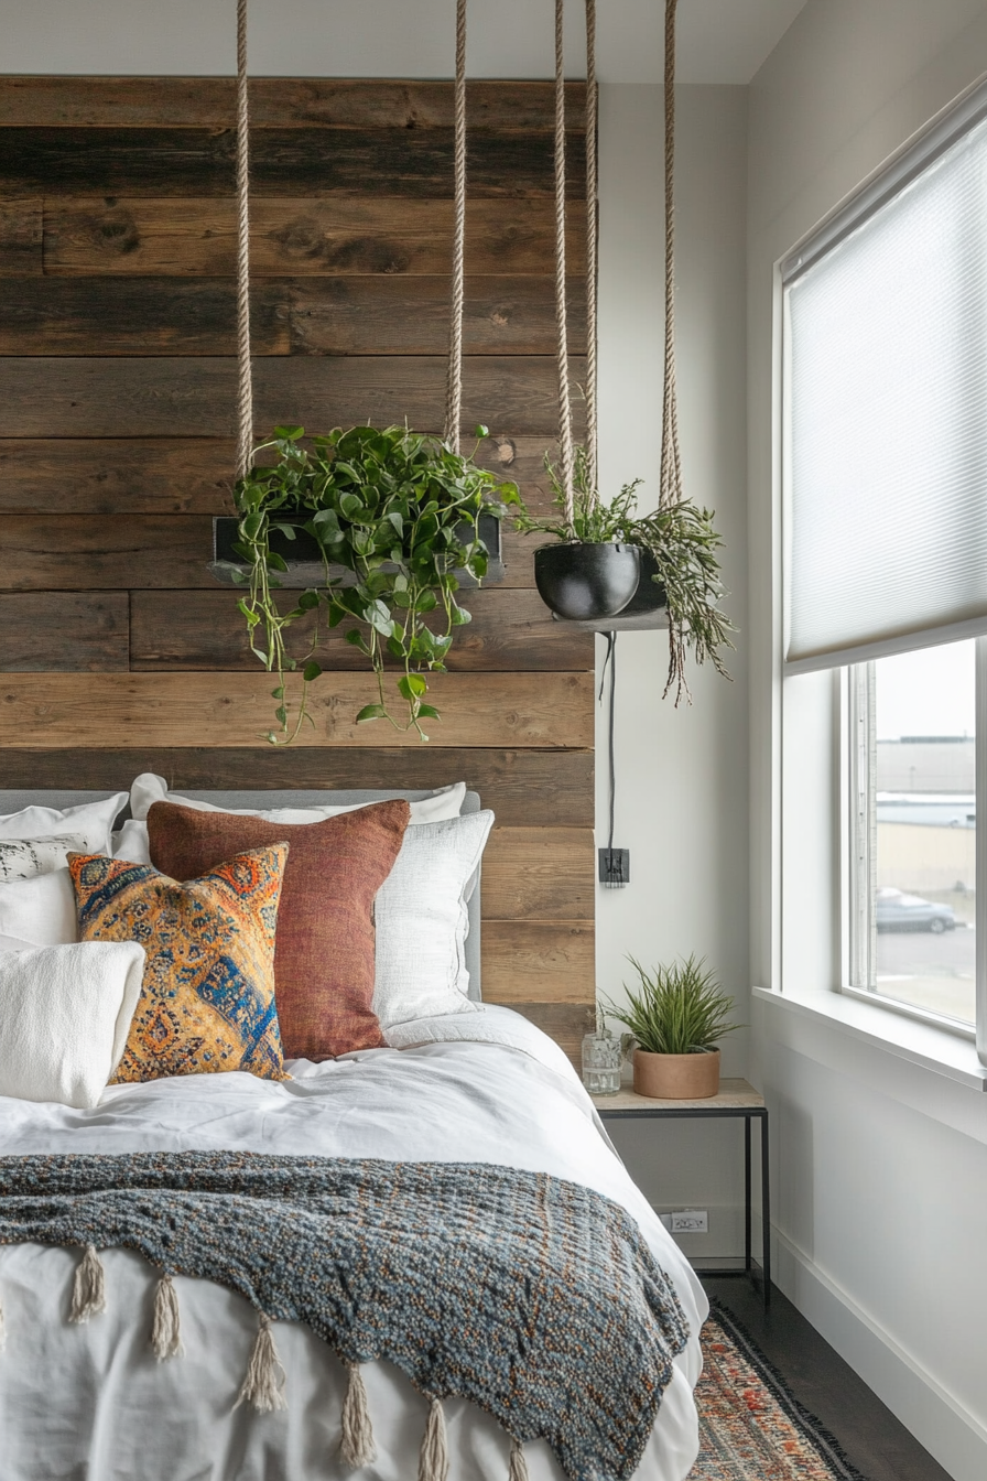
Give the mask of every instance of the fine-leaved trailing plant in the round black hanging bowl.
[(675, 690), (675, 705), (691, 703), (685, 671), (691, 652), (697, 663), (709, 659), (718, 674), (730, 678), (724, 650), (732, 649), (730, 634), (734, 624), (719, 603), (727, 595), (721, 579), (716, 551), (722, 539), (713, 527), (710, 509), (701, 509), (691, 499), (657, 508), (653, 514), (638, 514), (638, 489), (642, 478), (623, 484), (619, 495), (604, 504), (593, 484), (585, 447), (577, 447), (573, 462), (574, 509), (571, 523), (565, 518), (565, 490), (550, 458), (545, 458), (555, 505), (561, 511), (548, 518), (534, 518), (521, 511), (518, 529), (525, 533), (553, 535), (567, 544), (636, 545), (654, 557), (657, 575), (653, 581), (663, 586), (669, 612), (669, 672), (664, 698)]

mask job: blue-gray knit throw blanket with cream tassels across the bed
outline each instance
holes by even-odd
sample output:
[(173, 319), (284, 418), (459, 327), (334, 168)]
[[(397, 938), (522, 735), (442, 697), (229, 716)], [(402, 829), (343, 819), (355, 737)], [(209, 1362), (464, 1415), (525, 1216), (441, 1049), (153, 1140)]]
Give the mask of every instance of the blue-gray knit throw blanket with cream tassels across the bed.
[[(608, 1198), (543, 1173), (252, 1152), (0, 1158), (0, 1244), (78, 1246), (73, 1318), (105, 1309), (98, 1251), (160, 1272), (158, 1358), (182, 1351), (173, 1275), (259, 1314), (240, 1394), (284, 1407), (272, 1321), (302, 1321), (351, 1371), (342, 1453), (373, 1459), (360, 1364), (394, 1363), (431, 1400), (419, 1475), (448, 1471), (441, 1400), (459, 1395), (571, 1481), (626, 1481), (687, 1342), (675, 1288)], [(7, 1352), (7, 1361), (13, 1354)]]

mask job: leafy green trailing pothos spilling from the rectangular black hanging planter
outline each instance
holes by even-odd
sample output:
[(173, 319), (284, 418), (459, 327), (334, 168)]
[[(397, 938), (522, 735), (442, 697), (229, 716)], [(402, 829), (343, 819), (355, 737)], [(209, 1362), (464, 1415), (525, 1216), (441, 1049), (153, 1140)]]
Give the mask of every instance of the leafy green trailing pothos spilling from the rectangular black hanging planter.
[[(485, 435), (487, 428), (478, 427), (476, 446)], [(377, 698), (364, 705), (357, 721), (385, 720), (428, 740), (422, 721), (441, 717), (426, 702), (425, 674), (445, 669), (456, 628), (471, 621), (456, 600), (456, 572), (468, 572), (476, 582), (487, 575), (479, 517), (500, 520), (508, 505), (521, 505), (518, 487), (478, 468), (476, 449), (463, 458), (439, 438), (405, 427), (336, 428), (312, 437), (311, 446), (303, 437), (300, 427), (275, 428), (234, 490), (240, 514), (234, 548), (247, 569), (231, 566), (229, 573), (249, 588), (240, 610), (250, 647), (278, 678), (272, 698), (280, 729), (269, 730), (266, 739), (287, 745), (306, 721), (314, 724), (309, 686), (323, 672), (315, 653), (326, 625), (348, 622), (346, 641), (364, 655), (377, 680)], [(256, 462), (272, 452), (271, 464)], [(299, 527), (315, 539), (326, 576), (283, 610), (278, 573), (287, 563), (271, 549), (271, 535), (292, 541)], [(299, 656), (289, 652), (287, 634), (302, 619), (309, 619), (311, 628), (306, 652)], [(398, 665), (391, 699), (388, 658)], [(292, 702), (289, 675), (294, 672), (300, 672), (300, 686)], [(391, 709), (394, 698), (400, 718)]]

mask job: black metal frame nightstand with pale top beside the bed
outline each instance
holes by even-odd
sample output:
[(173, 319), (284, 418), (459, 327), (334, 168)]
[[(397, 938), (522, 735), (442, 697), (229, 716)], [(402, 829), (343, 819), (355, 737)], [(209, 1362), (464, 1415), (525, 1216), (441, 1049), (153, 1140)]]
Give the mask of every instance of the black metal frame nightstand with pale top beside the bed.
[(687, 1120), (693, 1117), (730, 1120), (743, 1118), (744, 1123), (744, 1265), (743, 1269), (698, 1269), (698, 1275), (747, 1275), (758, 1284), (758, 1266), (750, 1248), (750, 1206), (752, 1206), (752, 1167), (750, 1167), (750, 1123), (761, 1121), (761, 1219), (764, 1243), (761, 1253), (761, 1283), (764, 1303), (771, 1300), (771, 1192), (768, 1176), (768, 1108), (764, 1096), (746, 1080), (721, 1080), (719, 1094), (707, 1100), (653, 1100), (650, 1096), (639, 1096), (633, 1090), (621, 1090), (616, 1096), (592, 1096), (604, 1121), (647, 1121), (658, 1118)]

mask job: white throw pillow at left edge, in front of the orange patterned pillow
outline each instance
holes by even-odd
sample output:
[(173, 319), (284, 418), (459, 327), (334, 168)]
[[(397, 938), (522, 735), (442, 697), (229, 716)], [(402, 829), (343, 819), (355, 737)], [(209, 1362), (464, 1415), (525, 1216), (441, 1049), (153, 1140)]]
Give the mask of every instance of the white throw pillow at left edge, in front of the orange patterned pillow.
[(0, 955), (0, 1096), (92, 1109), (123, 1057), (144, 960), (136, 940)]

